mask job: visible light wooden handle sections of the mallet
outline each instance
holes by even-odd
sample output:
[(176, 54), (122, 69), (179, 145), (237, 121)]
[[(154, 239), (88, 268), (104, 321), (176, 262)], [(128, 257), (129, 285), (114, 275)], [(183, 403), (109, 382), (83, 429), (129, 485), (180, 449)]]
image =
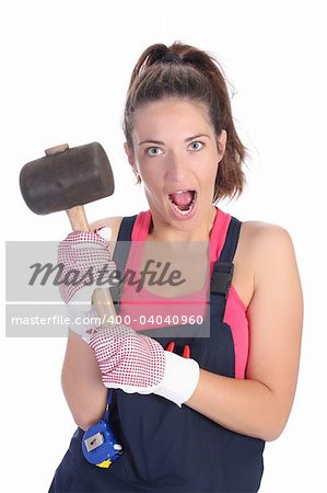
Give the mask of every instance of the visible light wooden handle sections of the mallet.
[[(66, 210), (66, 213), (69, 217), (73, 231), (90, 231), (90, 226), (83, 206), (72, 207), (71, 209)], [(116, 319), (116, 309), (109, 289), (94, 289), (92, 302), (96, 310), (97, 317), (101, 319), (104, 317), (106, 319), (110, 318), (110, 321), (104, 323), (104, 325), (113, 325)]]

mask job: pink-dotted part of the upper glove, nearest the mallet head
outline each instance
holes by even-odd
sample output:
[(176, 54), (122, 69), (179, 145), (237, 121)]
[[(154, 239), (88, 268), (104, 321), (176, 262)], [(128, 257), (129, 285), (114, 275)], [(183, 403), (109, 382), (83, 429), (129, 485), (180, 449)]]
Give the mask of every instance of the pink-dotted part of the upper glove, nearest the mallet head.
[[(75, 294), (84, 287), (93, 286), (98, 273), (106, 266), (106, 272), (116, 271), (112, 260), (109, 241), (97, 234), (96, 231), (74, 231), (59, 244), (58, 264), (62, 264), (59, 285), (60, 296), (68, 303)], [(75, 283), (74, 273), (78, 275)], [(79, 280), (80, 279), (80, 280)], [(90, 291), (92, 293), (92, 291)], [(91, 302), (91, 299), (90, 299)]]

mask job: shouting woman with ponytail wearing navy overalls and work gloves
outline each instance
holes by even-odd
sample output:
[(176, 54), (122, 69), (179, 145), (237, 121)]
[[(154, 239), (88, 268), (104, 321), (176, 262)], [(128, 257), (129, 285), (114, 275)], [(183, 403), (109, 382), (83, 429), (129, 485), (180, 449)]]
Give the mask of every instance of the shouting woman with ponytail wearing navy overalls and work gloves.
[[(94, 228), (108, 226), (117, 246), (131, 240), (129, 253), (114, 257), (118, 271), (143, 272), (155, 254), (156, 266), (173, 256), (184, 277), (175, 274), (180, 282), (172, 277), (161, 290), (149, 276), (141, 293), (120, 285), (119, 313), (131, 328), (100, 328), (89, 340), (71, 332), (62, 386), (79, 428), (50, 492), (258, 491), (265, 442), (282, 432), (296, 386), (303, 303), (292, 241), (279, 226), (241, 223), (214, 206), (242, 193), (245, 148), (208, 54), (182, 43), (145, 49), (131, 76), (124, 130), (150, 209)], [(80, 261), (81, 250), (69, 249), (86, 241), (92, 261), (83, 257), (83, 268), (110, 262), (97, 232), (70, 234), (60, 260)], [(63, 286), (66, 302), (80, 287)], [(151, 312), (177, 316), (153, 321)], [(203, 323), (195, 325), (190, 313)], [(104, 414), (108, 388), (117, 389), (112, 426), (124, 455), (100, 468), (82, 443)]]

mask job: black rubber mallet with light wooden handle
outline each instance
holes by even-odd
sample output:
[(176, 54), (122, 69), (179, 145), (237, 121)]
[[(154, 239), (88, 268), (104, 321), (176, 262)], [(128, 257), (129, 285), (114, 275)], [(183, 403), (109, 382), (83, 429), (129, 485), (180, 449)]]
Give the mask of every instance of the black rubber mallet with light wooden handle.
[[(20, 174), (23, 198), (35, 214), (66, 210), (73, 231), (89, 231), (84, 205), (113, 195), (114, 176), (108, 157), (98, 142), (46, 149), (46, 156), (25, 164)], [(95, 289), (98, 317), (116, 316), (109, 289)]]

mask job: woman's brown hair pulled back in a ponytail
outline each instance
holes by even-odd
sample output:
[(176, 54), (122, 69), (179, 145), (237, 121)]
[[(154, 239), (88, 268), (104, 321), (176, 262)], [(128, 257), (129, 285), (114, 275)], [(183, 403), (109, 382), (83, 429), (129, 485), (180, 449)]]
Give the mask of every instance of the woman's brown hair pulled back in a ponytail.
[(167, 96), (206, 104), (217, 135), (226, 130), (226, 148), (218, 167), (212, 202), (241, 195), (245, 185), (242, 164), (246, 148), (234, 126), (226, 81), (218, 61), (180, 42), (170, 47), (155, 44), (142, 53), (131, 74), (124, 112), (122, 129), (131, 149), (133, 112), (142, 104)]

